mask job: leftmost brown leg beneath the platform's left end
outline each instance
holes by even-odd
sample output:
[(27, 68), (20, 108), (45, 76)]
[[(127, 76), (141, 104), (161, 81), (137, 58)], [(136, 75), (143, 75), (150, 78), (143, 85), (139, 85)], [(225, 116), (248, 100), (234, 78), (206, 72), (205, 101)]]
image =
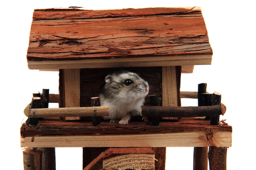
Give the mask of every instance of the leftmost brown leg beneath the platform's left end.
[(26, 148), (23, 151), (24, 170), (42, 170), (42, 151)]

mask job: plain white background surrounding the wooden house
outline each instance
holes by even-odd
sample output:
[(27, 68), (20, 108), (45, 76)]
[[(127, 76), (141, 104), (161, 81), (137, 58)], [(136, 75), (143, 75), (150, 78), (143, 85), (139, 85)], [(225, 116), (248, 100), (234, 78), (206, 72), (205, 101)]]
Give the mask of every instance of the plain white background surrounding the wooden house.
[[(233, 146), (228, 149), (228, 170), (255, 168), (255, 6), (247, 0), (129, 0), (129, 1), (1, 1), (0, 7), (0, 170), (22, 170), (20, 126), (23, 109), (33, 92), (49, 88), (58, 93), (58, 73), (29, 70), (26, 51), (32, 13), (36, 8), (82, 6), (86, 9), (201, 6), (213, 49), (212, 65), (195, 66), (193, 74), (183, 74), (181, 91), (197, 91), (207, 82), (207, 90), (222, 94), (227, 106), (221, 119), (233, 126)], [(182, 105), (197, 105), (193, 99)], [(55, 106), (52, 106), (55, 107)], [(81, 170), (81, 148), (56, 148), (57, 170)], [(171, 168), (172, 167), (172, 168)], [(166, 170), (192, 170), (193, 148), (168, 148)]]

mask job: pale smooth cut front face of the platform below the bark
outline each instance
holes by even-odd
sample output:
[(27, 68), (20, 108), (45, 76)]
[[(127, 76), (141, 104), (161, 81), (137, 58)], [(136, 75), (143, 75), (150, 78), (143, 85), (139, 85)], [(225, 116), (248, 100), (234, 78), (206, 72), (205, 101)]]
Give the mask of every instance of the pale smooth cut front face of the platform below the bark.
[(231, 147), (231, 132), (21, 137), (21, 147)]

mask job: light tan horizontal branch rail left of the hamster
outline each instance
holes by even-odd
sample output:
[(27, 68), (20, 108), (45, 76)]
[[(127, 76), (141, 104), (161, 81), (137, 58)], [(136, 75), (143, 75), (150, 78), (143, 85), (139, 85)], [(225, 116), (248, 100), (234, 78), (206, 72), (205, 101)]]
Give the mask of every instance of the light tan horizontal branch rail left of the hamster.
[(24, 114), (28, 117), (62, 117), (62, 116), (108, 116), (109, 106), (80, 108), (39, 108), (30, 109), (28, 105)]

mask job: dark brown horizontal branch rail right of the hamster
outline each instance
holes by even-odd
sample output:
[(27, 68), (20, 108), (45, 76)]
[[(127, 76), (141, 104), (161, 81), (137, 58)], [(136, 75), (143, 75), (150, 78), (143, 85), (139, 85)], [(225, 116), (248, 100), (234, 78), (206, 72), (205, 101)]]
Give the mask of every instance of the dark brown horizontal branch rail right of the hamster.
[(157, 117), (201, 117), (224, 115), (226, 106), (222, 103), (214, 106), (141, 106), (141, 116)]

